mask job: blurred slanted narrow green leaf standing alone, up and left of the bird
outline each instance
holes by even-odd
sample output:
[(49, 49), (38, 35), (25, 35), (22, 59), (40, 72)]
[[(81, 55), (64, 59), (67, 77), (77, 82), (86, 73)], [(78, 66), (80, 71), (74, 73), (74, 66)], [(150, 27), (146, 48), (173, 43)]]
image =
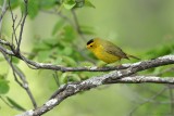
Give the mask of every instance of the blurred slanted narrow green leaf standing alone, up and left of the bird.
[(61, 28), (63, 26), (64, 26), (64, 21), (63, 20), (57, 22), (57, 24), (53, 27), (52, 35), (55, 35), (59, 30), (61, 30)]

